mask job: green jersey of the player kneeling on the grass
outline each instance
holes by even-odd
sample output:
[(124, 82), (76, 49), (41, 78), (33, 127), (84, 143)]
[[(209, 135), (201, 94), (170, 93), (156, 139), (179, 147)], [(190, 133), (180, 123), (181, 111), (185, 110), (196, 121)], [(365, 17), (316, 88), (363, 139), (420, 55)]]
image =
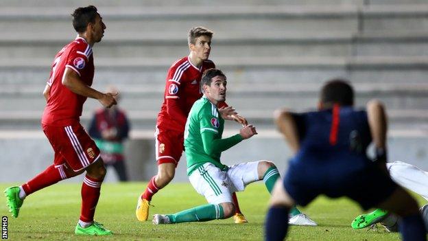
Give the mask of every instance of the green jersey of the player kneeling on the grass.
[(220, 162), (222, 152), (207, 154), (202, 141), (204, 131), (211, 131), (215, 133), (215, 139), (222, 139), (223, 128), (224, 119), (219, 115), (217, 107), (206, 97), (200, 98), (193, 104), (185, 127), (187, 175), (206, 162), (211, 162), (221, 169), (226, 168), (226, 165)]

